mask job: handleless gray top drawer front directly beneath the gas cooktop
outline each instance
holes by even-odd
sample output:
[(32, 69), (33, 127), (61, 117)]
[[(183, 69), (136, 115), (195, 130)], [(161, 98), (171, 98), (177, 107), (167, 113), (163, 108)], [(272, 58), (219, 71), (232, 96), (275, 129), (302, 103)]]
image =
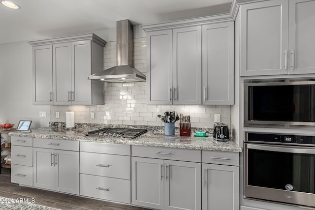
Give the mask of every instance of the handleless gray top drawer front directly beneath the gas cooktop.
[(130, 155), (130, 145), (107, 144), (102, 142), (80, 142), (80, 151)]

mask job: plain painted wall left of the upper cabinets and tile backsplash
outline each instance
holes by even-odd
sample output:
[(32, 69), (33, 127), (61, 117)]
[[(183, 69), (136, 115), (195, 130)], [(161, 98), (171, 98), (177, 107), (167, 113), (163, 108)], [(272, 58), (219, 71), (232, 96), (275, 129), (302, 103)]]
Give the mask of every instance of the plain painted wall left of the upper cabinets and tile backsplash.
[[(47, 118), (39, 118), (39, 111)], [(26, 41), (1, 44), (0, 122), (33, 120), (32, 128), (47, 127), (49, 117), (50, 106), (32, 105), (32, 46)]]

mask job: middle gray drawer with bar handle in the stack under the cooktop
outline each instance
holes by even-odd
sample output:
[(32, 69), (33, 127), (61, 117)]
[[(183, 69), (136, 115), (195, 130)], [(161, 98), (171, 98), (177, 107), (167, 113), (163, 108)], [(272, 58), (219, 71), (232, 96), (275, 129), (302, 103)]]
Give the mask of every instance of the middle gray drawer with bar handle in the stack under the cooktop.
[(130, 180), (130, 156), (80, 152), (80, 173)]

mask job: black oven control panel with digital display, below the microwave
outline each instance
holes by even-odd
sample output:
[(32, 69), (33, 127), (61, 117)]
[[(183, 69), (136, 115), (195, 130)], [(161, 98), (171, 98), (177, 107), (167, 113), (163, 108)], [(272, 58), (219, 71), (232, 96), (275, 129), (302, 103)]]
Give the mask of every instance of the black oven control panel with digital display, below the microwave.
[(307, 144), (315, 146), (315, 136), (271, 134), (271, 133), (245, 133), (245, 142), (274, 142), (283, 144)]

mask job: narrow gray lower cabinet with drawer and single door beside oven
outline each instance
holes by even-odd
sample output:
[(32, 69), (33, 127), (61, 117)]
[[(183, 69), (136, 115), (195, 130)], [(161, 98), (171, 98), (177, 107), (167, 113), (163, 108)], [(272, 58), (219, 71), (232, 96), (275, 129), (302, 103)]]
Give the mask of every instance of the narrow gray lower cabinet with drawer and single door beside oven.
[(202, 210), (239, 210), (239, 153), (202, 150)]

